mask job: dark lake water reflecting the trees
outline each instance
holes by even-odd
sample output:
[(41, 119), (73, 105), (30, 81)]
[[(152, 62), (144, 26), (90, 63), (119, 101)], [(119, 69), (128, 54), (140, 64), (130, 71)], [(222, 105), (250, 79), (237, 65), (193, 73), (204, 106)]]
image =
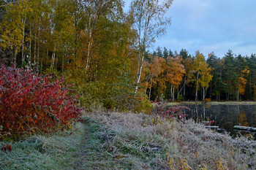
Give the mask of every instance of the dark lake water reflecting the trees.
[[(244, 131), (236, 131), (234, 125), (244, 125), (256, 128), (256, 104), (185, 104), (190, 110), (184, 112), (188, 117), (197, 122), (214, 120), (211, 125), (219, 125), (230, 135), (244, 134)], [(256, 137), (254, 133), (253, 136)]]

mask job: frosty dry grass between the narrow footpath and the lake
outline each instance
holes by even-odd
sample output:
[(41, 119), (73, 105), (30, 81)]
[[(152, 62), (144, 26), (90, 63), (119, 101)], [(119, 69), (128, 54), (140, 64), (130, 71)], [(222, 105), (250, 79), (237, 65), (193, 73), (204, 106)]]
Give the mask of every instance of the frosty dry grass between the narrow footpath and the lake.
[(109, 155), (101, 164), (110, 169), (256, 169), (255, 141), (232, 139), (192, 120), (120, 112), (86, 116), (105, 125), (96, 152)]

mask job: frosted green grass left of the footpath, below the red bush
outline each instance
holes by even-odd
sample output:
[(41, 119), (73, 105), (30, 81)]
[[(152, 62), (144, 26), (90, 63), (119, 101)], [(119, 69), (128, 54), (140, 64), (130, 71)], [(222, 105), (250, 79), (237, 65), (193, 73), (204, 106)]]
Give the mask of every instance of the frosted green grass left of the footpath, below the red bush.
[[(0, 147), (11, 144), (12, 151), (0, 151), (0, 169), (69, 169), (73, 167), (74, 152), (84, 133), (82, 123), (70, 131), (54, 135), (35, 135), (19, 142), (0, 142)], [(72, 132), (72, 134), (70, 134)]]

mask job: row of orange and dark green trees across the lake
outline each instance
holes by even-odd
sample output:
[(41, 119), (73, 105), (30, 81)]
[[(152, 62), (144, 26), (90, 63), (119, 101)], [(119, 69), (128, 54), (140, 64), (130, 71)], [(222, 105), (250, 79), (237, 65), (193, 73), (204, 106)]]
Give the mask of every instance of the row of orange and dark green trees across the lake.
[(147, 63), (145, 93), (152, 100), (160, 96), (172, 101), (256, 99), (256, 54), (253, 53), (242, 56), (228, 50), (222, 58), (214, 52), (206, 58), (199, 51), (190, 55), (184, 49), (173, 53), (166, 47), (163, 51), (157, 47), (156, 51), (148, 53)]

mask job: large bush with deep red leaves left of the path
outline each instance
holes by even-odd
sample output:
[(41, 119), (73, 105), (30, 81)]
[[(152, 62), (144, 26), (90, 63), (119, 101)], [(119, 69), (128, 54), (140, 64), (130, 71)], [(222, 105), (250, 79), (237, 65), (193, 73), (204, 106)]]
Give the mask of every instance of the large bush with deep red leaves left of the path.
[(13, 65), (0, 68), (0, 125), (4, 133), (48, 131), (78, 118), (78, 99), (63, 85), (63, 77), (54, 79), (54, 74), (40, 76)]

